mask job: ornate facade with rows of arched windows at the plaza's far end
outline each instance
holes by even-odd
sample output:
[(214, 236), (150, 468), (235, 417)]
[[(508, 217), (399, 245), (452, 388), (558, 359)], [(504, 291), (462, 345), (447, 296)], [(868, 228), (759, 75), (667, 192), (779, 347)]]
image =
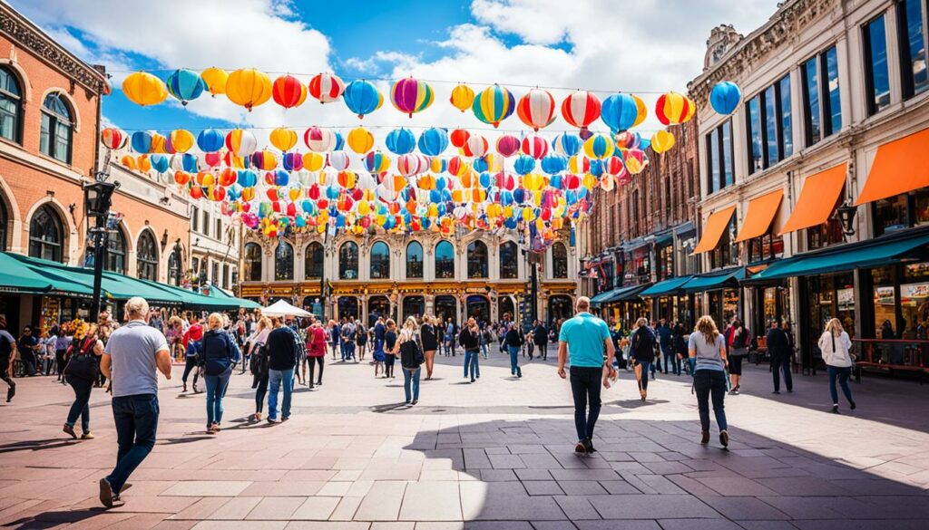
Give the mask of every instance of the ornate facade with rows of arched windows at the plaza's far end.
[[(416, 235), (318, 234), (265, 239), (246, 235), (240, 295), (261, 302), (283, 298), (326, 318), (434, 315), (520, 318), (530, 299), (531, 266), (515, 239), (489, 233), (442, 238)], [(568, 239), (543, 254), (537, 315), (569, 317), (578, 263)], [(325, 293), (320, 301), (321, 290)]]

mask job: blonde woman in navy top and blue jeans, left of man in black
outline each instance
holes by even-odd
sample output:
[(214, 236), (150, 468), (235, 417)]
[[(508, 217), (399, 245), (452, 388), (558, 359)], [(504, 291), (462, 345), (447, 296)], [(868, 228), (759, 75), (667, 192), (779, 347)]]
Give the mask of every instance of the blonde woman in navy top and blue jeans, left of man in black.
[(239, 361), (239, 347), (223, 329), (224, 318), (213, 313), (206, 319), (208, 330), (203, 333), (203, 346), (197, 365), (206, 381), (206, 433), (216, 434), (223, 422), (223, 397), (229, 388), (232, 368)]

